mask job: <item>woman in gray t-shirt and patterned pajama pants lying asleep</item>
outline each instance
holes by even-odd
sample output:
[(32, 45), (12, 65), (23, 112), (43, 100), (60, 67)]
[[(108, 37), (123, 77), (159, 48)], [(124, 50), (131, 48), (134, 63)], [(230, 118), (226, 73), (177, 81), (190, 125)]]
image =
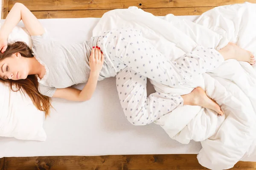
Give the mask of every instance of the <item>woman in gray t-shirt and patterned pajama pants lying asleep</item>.
[[(7, 44), (7, 37), (20, 20), (31, 35), (32, 49), (24, 42)], [(233, 43), (219, 51), (197, 46), (170, 61), (134, 28), (109, 30), (81, 43), (64, 43), (53, 40), (21, 3), (13, 6), (0, 29), (0, 50), (1, 81), (25, 91), (47, 115), (50, 97), (87, 101), (97, 81), (116, 77), (119, 101), (133, 125), (147, 125), (183, 105), (199, 105), (223, 115), (199, 87), (183, 96), (156, 92), (147, 97), (147, 78), (175, 88), (191, 84), (198, 74), (217, 68), (227, 59), (255, 63), (252, 53)], [(82, 90), (71, 87), (79, 83), (86, 83)]]

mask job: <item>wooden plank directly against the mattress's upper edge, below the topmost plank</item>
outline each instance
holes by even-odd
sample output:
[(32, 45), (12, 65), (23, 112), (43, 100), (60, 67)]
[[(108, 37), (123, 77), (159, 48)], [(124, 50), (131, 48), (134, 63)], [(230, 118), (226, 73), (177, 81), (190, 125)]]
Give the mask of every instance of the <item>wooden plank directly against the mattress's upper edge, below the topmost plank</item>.
[[(174, 15), (200, 15), (213, 7), (191, 7), (191, 8), (148, 8), (143, 9), (155, 16), (165, 16), (166, 14)], [(85, 17), (102, 17), (102, 15), (112, 9), (102, 10), (79, 10), (79, 11), (32, 11), (38, 19), (45, 18), (85, 18)]]

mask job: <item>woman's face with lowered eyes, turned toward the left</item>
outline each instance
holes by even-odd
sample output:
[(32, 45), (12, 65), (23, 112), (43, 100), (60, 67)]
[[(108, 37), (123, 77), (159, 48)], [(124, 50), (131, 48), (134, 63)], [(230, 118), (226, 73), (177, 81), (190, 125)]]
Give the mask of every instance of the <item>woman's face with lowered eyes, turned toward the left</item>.
[(20, 53), (12, 54), (0, 61), (0, 77), (2, 79), (26, 79), (29, 73), (25, 57)]

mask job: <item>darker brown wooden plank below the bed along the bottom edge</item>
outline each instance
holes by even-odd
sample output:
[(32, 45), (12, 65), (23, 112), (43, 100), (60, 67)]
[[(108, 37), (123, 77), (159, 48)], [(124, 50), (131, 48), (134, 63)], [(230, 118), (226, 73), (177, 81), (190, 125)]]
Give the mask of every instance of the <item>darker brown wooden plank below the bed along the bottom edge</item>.
[[(5, 158), (5, 170), (170, 170), (206, 169), (196, 155), (42, 156)], [(239, 162), (233, 168), (255, 169), (256, 162)]]

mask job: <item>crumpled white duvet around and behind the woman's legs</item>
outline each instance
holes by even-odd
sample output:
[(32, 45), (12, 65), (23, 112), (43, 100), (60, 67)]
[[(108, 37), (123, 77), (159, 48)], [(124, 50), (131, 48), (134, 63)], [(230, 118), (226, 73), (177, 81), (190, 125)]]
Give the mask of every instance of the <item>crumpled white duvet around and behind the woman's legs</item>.
[[(125, 26), (140, 29), (170, 60), (197, 45), (219, 49), (228, 42), (256, 55), (256, 4), (252, 3), (214, 8), (194, 23), (172, 14), (160, 19), (137, 7), (116, 9), (103, 15), (93, 36)], [(199, 86), (221, 106), (225, 116), (199, 106), (183, 106), (155, 122), (180, 143), (200, 141), (201, 165), (221, 170), (240, 160), (256, 161), (256, 71), (247, 62), (227, 60), (211, 73), (198, 77), (192, 87), (169, 88), (151, 83), (156, 91), (180, 95)]]

